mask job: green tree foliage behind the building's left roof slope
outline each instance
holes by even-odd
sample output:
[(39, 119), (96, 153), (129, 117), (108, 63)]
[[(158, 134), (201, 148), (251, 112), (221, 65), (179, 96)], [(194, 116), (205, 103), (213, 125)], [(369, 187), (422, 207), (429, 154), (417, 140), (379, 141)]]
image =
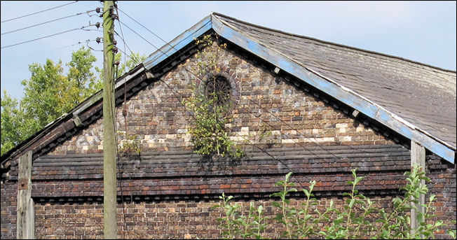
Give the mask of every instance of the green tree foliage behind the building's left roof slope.
[[(118, 76), (146, 58), (133, 55), (135, 59), (121, 64)], [(120, 53), (116, 58), (121, 59)], [(90, 49), (81, 47), (72, 52), (66, 74), (61, 60), (29, 64), (31, 76), (21, 82), (24, 97), (18, 101), (6, 91), (1, 97), (1, 155), (102, 89), (102, 70), (95, 62)]]

